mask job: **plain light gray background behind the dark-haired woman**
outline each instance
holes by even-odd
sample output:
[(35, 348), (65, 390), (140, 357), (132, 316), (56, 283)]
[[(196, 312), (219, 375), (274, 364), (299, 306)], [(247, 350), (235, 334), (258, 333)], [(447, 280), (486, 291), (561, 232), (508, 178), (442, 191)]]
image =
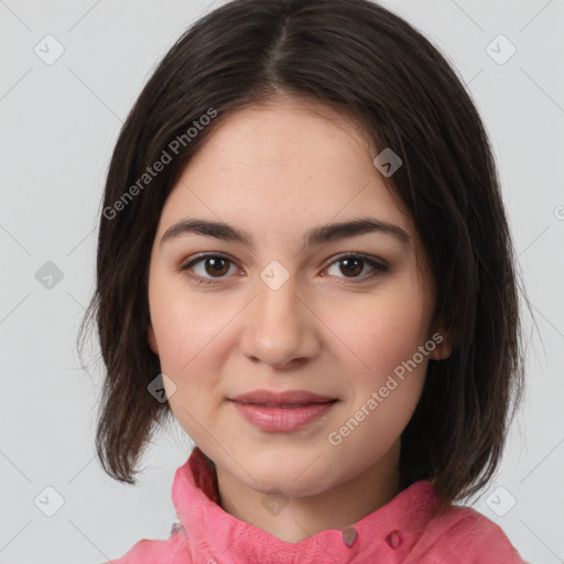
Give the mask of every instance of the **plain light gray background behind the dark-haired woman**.
[[(192, 443), (176, 424), (153, 441), (137, 487), (106, 476), (94, 457), (100, 370), (80, 369), (75, 339), (121, 122), (177, 36), (220, 3), (0, 0), (1, 564), (94, 564), (170, 533), (172, 479)], [(473, 507), (529, 562), (564, 562), (564, 0), (384, 4), (443, 51), (481, 111), (538, 324), (524, 319), (525, 403)], [(34, 52), (47, 56), (47, 34), (64, 47), (52, 64)], [(499, 34), (517, 48), (503, 64), (511, 45), (491, 43)], [(63, 274), (52, 288), (36, 279), (47, 261)], [(46, 487), (64, 499), (52, 517)]]

